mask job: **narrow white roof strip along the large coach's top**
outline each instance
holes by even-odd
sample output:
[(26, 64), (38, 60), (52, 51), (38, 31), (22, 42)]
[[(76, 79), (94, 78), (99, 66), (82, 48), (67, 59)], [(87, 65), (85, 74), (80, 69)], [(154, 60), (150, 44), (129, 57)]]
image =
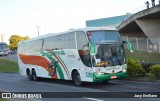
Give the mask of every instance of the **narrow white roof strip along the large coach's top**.
[(47, 37), (51, 37), (51, 36), (56, 36), (56, 35), (63, 35), (63, 34), (70, 33), (70, 32), (75, 32), (75, 31), (84, 31), (84, 32), (87, 32), (87, 31), (93, 31), (93, 30), (96, 31), (96, 30), (117, 30), (117, 29), (114, 28), (114, 27), (86, 27), (86, 28), (79, 28), (79, 29), (70, 29), (70, 30), (65, 31), (65, 32), (48, 33), (48, 34), (45, 34), (45, 35), (37, 36), (37, 37), (31, 38), (29, 40), (25, 40), (23, 42), (34, 41), (34, 40), (43, 39), (43, 38), (47, 38)]

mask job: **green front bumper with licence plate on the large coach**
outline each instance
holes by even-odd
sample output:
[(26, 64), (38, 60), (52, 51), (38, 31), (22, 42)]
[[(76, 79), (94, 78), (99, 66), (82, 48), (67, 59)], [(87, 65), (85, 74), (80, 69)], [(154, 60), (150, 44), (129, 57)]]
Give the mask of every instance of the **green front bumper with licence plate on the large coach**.
[(112, 79), (120, 79), (125, 78), (127, 76), (127, 72), (115, 73), (115, 74), (93, 74), (93, 82), (103, 82), (109, 81)]

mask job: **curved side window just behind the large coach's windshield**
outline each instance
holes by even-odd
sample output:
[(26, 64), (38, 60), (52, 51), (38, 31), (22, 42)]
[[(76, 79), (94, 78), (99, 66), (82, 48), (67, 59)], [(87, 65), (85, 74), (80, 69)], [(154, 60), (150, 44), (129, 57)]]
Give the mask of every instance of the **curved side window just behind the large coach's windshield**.
[(91, 67), (91, 57), (89, 51), (89, 44), (87, 40), (87, 36), (84, 32), (79, 31), (76, 32), (77, 37), (77, 49), (79, 52), (79, 56), (87, 67)]

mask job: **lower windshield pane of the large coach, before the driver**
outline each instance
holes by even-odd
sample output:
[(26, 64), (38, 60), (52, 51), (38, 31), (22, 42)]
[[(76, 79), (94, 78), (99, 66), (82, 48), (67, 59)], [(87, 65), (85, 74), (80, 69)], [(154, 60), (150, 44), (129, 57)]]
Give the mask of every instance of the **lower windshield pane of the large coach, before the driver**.
[(93, 56), (94, 67), (106, 67), (125, 64), (125, 51), (122, 44), (96, 44)]

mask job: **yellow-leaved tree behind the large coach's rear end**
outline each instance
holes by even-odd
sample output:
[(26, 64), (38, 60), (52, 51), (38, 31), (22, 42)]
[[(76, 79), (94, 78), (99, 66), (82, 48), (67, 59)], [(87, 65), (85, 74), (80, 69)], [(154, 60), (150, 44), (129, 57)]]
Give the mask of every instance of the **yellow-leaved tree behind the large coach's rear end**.
[(23, 40), (28, 40), (29, 37), (26, 36), (26, 37), (22, 37), (20, 35), (12, 35), (10, 38), (9, 38), (9, 48), (11, 50), (14, 50), (14, 49), (17, 49), (18, 47), (18, 42), (20, 41), (23, 41)]

